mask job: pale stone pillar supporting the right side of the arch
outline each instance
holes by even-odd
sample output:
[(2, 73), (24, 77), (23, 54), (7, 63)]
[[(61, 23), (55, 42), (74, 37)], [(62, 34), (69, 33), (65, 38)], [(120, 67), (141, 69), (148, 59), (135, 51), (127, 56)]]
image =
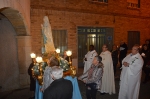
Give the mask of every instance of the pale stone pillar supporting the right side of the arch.
[(17, 36), (20, 87), (29, 85), (28, 67), (31, 63), (31, 36)]

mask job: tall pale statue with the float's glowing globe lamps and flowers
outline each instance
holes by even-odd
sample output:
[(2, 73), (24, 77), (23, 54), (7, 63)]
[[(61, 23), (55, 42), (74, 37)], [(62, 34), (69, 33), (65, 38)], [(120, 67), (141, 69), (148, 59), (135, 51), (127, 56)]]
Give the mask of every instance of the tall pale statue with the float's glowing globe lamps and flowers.
[(72, 66), (71, 61), (71, 51), (67, 51), (66, 54), (69, 57), (69, 61), (65, 60), (64, 58), (60, 57), (60, 49), (55, 49), (54, 42), (53, 42), (53, 36), (52, 36), (52, 30), (49, 23), (49, 19), (47, 16), (44, 16), (43, 18), (44, 23), (41, 25), (42, 27), (42, 56), (36, 57), (36, 54), (31, 53), (30, 56), (32, 59), (36, 59), (36, 62), (34, 63), (34, 66), (32, 68), (32, 75), (35, 77), (39, 83), (39, 85), (43, 85), (43, 73), (45, 70), (45, 67), (47, 66), (47, 59), (49, 59), (51, 56), (55, 56), (59, 61), (59, 66), (64, 71), (64, 76), (72, 76), (74, 77), (76, 75), (76, 67)]

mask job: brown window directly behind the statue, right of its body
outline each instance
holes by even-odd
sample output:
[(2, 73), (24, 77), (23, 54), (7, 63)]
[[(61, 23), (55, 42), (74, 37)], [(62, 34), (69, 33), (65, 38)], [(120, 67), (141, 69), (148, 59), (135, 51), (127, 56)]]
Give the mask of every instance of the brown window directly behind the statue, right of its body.
[(53, 30), (53, 41), (55, 48), (60, 49), (60, 55), (67, 50), (67, 30)]

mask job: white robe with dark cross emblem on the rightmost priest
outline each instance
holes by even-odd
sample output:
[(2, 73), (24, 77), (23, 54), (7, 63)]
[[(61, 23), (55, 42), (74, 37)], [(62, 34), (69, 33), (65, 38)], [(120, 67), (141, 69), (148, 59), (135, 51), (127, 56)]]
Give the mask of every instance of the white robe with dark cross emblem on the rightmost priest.
[(129, 67), (122, 66), (118, 99), (138, 99), (143, 59), (139, 53), (129, 54), (123, 62), (128, 62)]

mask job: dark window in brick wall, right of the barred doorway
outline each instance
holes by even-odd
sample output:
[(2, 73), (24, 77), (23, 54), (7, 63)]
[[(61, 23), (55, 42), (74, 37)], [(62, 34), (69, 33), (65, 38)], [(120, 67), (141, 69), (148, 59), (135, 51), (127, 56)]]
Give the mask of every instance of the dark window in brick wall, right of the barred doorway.
[(140, 44), (140, 32), (128, 31), (128, 48), (132, 49), (133, 45)]

